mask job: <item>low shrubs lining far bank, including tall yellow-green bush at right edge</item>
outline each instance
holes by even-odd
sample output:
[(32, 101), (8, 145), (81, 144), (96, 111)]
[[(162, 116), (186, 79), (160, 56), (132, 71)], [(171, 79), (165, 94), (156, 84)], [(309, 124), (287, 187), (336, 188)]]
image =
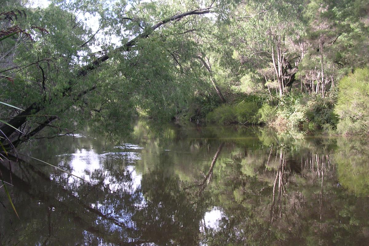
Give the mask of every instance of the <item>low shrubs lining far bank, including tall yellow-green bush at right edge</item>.
[(265, 124), (279, 130), (323, 130), (326, 134), (342, 135), (369, 133), (368, 68), (356, 69), (342, 78), (338, 88), (332, 88), (325, 97), (296, 91), (269, 99), (256, 93), (233, 96), (232, 101), (239, 98), (242, 101), (213, 104), (213, 107), (207, 101), (200, 101), (203, 105), (197, 107), (202, 111), (196, 111), (191, 117), (198, 117), (197, 122)]

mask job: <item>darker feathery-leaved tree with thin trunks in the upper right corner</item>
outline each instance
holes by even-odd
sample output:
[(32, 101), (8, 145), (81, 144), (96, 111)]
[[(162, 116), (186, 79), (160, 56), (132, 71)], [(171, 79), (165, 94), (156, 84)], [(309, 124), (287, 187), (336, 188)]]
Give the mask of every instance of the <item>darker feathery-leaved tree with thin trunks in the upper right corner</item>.
[(342, 75), (368, 63), (368, 3), (311, 0), (304, 16), (306, 53), (301, 81), (323, 97)]

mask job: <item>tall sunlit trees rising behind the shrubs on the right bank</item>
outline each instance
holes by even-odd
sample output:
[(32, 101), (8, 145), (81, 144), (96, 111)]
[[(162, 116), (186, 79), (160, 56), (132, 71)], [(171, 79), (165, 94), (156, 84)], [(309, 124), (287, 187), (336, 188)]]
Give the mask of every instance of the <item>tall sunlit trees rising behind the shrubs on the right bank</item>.
[(301, 91), (324, 97), (342, 75), (368, 63), (367, 7), (361, 0), (242, 1), (227, 45), (244, 79), (256, 73), (280, 96), (299, 79)]

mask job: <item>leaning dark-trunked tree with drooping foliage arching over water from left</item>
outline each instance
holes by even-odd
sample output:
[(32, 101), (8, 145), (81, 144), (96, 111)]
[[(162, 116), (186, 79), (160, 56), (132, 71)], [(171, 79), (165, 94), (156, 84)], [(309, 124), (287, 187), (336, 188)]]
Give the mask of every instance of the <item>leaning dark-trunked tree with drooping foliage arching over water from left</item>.
[[(2, 112), (1, 118), (9, 121), (1, 125), (1, 134), (12, 137), (11, 143), (2, 142), (17, 146), (45, 127), (61, 131), (70, 119), (74, 124), (103, 120), (113, 131), (126, 127), (138, 108), (152, 117), (168, 117), (199, 86), (207, 86), (200, 67), (191, 65), (197, 45), (189, 30), (208, 18), (204, 14), (224, 20), (232, 2), (52, 1), (46, 8), (5, 4), (3, 15), (24, 13), (7, 23), (24, 31), (16, 37), (26, 35), (28, 40), (17, 43), (12, 61), (5, 61), (11, 66), (1, 71), (1, 100), (22, 109)], [(96, 16), (97, 32), (81, 20), (84, 16)], [(106, 37), (112, 34), (121, 44), (109, 42)], [(101, 50), (93, 52), (91, 44)], [(15, 136), (16, 129), (22, 133)]]

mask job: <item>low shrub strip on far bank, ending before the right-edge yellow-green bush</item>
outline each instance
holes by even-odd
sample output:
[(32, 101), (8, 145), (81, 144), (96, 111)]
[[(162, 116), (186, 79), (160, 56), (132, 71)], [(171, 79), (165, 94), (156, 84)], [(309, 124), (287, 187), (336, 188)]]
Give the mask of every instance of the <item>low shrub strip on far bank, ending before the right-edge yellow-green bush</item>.
[(257, 95), (250, 98), (243, 96), (241, 102), (220, 104), (213, 108), (206, 104), (197, 105), (203, 111), (196, 111), (198, 114), (191, 115), (190, 120), (198, 124), (262, 124), (282, 131), (324, 130), (327, 134), (333, 134), (338, 123), (338, 115), (335, 113), (336, 94), (331, 93), (329, 97), (323, 98), (315, 94), (290, 93), (277, 101), (253, 101)]

